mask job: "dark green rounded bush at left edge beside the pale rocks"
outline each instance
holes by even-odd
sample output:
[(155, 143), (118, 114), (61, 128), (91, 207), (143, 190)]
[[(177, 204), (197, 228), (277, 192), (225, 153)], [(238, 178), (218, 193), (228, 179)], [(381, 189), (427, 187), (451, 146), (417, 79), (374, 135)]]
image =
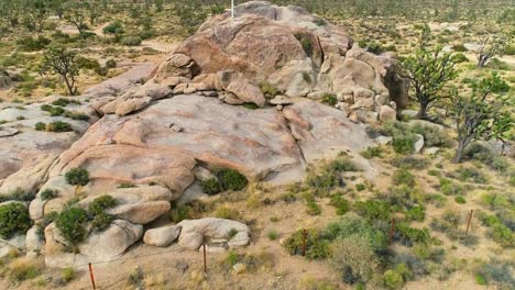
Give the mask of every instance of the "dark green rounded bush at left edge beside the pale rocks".
[(32, 220), (25, 205), (13, 202), (0, 207), (0, 237), (8, 239), (15, 234), (24, 234), (31, 226)]

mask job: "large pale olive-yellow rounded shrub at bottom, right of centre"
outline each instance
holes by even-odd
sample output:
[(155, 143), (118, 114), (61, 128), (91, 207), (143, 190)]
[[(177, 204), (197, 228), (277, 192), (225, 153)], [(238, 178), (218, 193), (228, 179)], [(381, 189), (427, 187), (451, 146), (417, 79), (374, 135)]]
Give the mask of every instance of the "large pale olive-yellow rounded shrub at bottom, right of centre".
[(347, 283), (366, 282), (379, 266), (379, 258), (364, 237), (339, 238), (331, 245), (331, 264)]

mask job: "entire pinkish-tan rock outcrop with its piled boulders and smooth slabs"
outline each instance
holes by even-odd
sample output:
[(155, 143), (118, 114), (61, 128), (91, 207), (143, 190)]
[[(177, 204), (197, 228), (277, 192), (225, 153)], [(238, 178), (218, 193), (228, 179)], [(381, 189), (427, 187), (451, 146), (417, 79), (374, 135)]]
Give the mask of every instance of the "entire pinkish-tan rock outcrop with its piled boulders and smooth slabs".
[[(35, 194), (26, 205), (36, 223), (77, 197), (83, 209), (100, 194), (116, 200), (106, 210), (109, 226), (87, 228), (73, 253), (50, 223), (44, 242), (35, 226), (0, 241), (0, 256), (41, 252), (47, 265), (64, 267), (113, 259), (142, 237), (220, 252), (248, 245), (249, 227), (220, 219), (144, 226), (172, 202), (201, 196), (200, 181), (216, 179), (217, 168), (288, 183), (309, 163), (346, 152), (376, 174), (360, 155), (372, 144), (363, 122), (394, 120), (405, 105), (395, 60), (297, 7), (252, 1), (237, 15), (208, 20), (157, 67), (143, 64), (87, 90), (66, 103), (67, 113), (48, 107), (58, 97), (0, 104), (0, 196)], [(48, 130), (57, 121), (68, 123), (65, 132)], [(67, 180), (75, 168), (88, 172), (87, 185)]]

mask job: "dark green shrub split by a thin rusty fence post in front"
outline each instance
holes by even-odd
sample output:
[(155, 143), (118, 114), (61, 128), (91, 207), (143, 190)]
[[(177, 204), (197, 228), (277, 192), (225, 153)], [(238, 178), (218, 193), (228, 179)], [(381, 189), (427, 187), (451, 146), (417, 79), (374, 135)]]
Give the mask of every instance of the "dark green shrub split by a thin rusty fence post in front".
[[(303, 254), (303, 231), (295, 232), (284, 243), (289, 255)], [(322, 259), (330, 256), (329, 241), (318, 230), (308, 230), (306, 236), (306, 258)]]

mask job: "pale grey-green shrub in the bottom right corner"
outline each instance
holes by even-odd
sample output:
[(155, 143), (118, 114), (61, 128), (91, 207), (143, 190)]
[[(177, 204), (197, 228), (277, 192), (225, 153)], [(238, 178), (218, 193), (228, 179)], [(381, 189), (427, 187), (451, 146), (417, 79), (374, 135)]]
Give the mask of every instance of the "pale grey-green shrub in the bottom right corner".
[(476, 275), (482, 276), (486, 283), (496, 283), (501, 289), (513, 289), (515, 287), (515, 278), (512, 272), (513, 264), (498, 259), (492, 259), (476, 270)]

